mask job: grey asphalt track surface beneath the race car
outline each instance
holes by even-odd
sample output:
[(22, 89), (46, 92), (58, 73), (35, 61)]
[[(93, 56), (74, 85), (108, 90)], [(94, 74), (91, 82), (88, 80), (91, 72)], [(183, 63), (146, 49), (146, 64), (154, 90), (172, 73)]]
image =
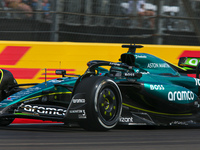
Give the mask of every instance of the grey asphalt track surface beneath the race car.
[(0, 127), (1, 150), (199, 150), (200, 127), (88, 132), (62, 124)]

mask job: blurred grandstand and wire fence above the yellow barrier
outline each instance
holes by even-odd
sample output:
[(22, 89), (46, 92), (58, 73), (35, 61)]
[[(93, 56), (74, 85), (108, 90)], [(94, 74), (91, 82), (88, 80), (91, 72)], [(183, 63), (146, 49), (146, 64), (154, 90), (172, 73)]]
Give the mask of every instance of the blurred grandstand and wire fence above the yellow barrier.
[(200, 0), (0, 0), (0, 40), (200, 45)]

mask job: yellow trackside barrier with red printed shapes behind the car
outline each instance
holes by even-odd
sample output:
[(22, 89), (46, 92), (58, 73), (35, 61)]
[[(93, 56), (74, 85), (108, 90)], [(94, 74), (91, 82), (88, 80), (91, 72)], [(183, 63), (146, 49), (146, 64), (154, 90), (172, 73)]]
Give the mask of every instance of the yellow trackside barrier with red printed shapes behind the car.
[[(18, 83), (41, 83), (59, 77), (56, 69), (83, 74), (90, 60), (117, 62), (127, 49), (122, 44), (75, 42), (0, 41), (0, 68), (10, 70)], [(137, 52), (150, 53), (173, 64), (182, 56), (200, 57), (198, 46), (144, 45)]]

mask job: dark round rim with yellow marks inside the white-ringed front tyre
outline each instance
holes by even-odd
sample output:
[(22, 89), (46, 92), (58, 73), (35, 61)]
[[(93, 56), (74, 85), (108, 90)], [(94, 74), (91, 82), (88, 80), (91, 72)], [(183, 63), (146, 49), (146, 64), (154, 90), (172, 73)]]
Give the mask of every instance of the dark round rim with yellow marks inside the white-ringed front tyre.
[(110, 88), (105, 88), (99, 94), (98, 108), (99, 115), (102, 121), (110, 122), (112, 121), (118, 111), (118, 97), (114, 93), (114, 91)]

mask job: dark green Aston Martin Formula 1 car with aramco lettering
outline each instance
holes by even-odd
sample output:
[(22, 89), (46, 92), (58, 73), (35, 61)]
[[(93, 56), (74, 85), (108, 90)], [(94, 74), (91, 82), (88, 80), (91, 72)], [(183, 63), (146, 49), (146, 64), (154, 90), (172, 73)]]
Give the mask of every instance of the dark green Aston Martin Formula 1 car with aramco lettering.
[[(17, 84), (9, 71), (1, 70), (0, 125), (31, 118), (77, 122), (86, 130), (104, 131), (116, 125), (200, 122), (200, 80), (185, 75), (187, 69), (180, 67), (185, 59), (175, 66), (135, 52), (143, 46), (122, 47), (129, 50), (121, 54), (120, 62), (90, 61), (78, 77), (57, 70), (62, 78)], [(23, 88), (27, 85), (34, 86)]]

